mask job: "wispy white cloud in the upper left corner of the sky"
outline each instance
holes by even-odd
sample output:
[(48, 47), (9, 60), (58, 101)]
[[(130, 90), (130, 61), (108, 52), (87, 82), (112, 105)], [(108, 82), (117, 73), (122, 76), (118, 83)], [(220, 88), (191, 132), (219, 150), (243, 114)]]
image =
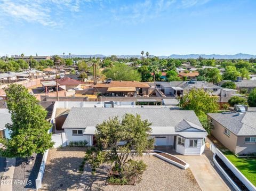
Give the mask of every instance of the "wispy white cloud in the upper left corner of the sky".
[(101, 0), (3, 0), (0, 16), (56, 27), (63, 23), (62, 12), (79, 12), (82, 4), (96, 1)]

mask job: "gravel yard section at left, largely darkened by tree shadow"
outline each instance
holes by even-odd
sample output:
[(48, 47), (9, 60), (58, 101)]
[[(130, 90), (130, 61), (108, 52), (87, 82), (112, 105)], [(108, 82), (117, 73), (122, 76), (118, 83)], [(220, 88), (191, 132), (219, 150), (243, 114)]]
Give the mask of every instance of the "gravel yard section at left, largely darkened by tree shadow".
[(79, 165), (83, 161), (85, 147), (53, 148), (49, 151), (40, 190), (68, 190), (74, 189), (81, 173)]

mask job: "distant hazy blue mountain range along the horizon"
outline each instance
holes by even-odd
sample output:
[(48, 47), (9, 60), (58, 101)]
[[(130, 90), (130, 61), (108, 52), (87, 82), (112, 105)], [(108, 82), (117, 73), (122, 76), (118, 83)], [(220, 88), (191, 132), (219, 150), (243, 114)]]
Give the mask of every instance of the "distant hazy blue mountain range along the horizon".
[[(90, 57), (100, 57), (100, 58), (104, 58), (104, 57), (108, 57), (102, 54), (91, 54), (91, 55), (76, 55), (76, 54), (71, 54), (71, 57), (82, 57), (84, 59), (86, 58), (90, 58)], [(144, 55), (145, 56), (145, 55)], [(185, 54), (185, 55), (179, 55), (179, 54), (172, 54), (170, 56), (158, 56), (160, 59), (167, 59), (167, 58), (171, 58), (171, 59), (197, 59), (199, 56), (205, 58), (205, 59), (251, 59), (251, 58), (256, 58), (256, 55), (252, 55), (252, 54), (243, 54), (243, 53), (239, 53), (239, 54), (234, 54), (234, 55), (220, 55), (220, 54)], [(69, 57), (69, 55), (60, 55), (60, 57)], [(131, 57), (137, 57), (140, 58), (141, 55), (117, 55), (117, 57), (119, 58), (131, 58)], [(150, 55), (150, 57), (154, 57), (154, 55)]]

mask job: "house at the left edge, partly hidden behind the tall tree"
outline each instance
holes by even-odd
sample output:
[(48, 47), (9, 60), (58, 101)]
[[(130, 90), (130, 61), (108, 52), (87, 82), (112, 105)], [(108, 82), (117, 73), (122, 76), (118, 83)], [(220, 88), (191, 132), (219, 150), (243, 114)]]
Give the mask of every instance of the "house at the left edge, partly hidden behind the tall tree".
[(5, 127), (7, 123), (12, 123), (11, 114), (7, 109), (0, 109), (0, 138), (10, 138), (9, 130)]

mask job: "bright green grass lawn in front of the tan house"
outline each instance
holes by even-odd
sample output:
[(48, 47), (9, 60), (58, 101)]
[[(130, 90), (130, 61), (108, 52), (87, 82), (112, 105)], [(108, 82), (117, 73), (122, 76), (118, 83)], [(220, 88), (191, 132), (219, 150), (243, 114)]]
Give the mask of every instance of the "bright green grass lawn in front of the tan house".
[(223, 154), (256, 186), (256, 159), (238, 158), (230, 151), (223, 152)]

